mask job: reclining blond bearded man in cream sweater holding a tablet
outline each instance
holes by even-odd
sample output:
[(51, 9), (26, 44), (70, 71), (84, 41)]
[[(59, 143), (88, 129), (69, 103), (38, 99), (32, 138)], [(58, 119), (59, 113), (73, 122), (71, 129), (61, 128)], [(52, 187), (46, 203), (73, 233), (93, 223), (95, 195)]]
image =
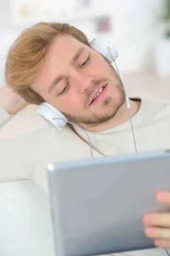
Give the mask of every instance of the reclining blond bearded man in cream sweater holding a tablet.
[[(10, 88), (0, 92), (1, 127), (26, 102), (46, 101), (88, 132), (94, 157), (135, 153), (119, 77), (75, 27), (38, 23), (26, 29), (9, 50), (6, 82)], [(94, 99), (101, 87), (105, 93)], [(138, 152), (169, 149), (170, 102), (130, 99), (130, 107)], [(58, 131), (41, 125), (1, 140), (1, 181), (28, 177), (48, 191), (48, 162), (90, 156), (88, 138), (80, 128), (66, 125)], [(170, 204), (170, 192), (158, 193), (156, 200)], [(169, 213), (146, 215), (143, 222), (156, 246), (170, 247)]]

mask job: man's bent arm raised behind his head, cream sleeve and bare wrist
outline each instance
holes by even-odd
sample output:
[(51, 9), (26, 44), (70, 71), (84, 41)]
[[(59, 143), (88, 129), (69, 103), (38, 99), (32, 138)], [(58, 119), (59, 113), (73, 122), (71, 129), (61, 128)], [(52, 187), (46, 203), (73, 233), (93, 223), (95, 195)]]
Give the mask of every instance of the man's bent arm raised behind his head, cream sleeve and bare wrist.
[[(20, 96), (4, 87), (0, 91), (0, 128), (26, 105)], [(47, 130), (39, 126), (0, 140), (0, 182), (31, 177), (46, 133)]]

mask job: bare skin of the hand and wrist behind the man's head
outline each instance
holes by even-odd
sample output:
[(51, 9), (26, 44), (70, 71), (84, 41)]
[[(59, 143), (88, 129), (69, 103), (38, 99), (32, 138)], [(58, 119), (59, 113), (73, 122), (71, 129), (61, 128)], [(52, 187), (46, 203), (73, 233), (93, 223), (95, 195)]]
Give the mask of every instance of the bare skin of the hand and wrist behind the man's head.
[(28, 102), (16, 93), (13, 93), (7, 86), (0, 91), (0, 106), (10, 114), (16, 114), (28, 104)]

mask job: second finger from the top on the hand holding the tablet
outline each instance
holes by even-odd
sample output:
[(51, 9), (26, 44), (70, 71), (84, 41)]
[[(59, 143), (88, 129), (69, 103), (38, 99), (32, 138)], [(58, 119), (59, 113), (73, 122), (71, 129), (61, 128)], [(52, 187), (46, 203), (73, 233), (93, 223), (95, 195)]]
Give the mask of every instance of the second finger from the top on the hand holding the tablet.
[(170, 227), (170, 213), (147, 214), (142, 221), (148, 226)]

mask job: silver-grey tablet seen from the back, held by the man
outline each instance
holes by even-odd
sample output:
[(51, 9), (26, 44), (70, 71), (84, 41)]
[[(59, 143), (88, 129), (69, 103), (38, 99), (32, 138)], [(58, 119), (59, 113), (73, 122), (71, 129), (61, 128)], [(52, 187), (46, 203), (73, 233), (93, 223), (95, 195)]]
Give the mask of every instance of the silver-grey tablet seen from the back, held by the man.
[(47, 166), (56, 255), (91, 256), (154, 247), (142, 216), (167, 212), (170, 151)]

